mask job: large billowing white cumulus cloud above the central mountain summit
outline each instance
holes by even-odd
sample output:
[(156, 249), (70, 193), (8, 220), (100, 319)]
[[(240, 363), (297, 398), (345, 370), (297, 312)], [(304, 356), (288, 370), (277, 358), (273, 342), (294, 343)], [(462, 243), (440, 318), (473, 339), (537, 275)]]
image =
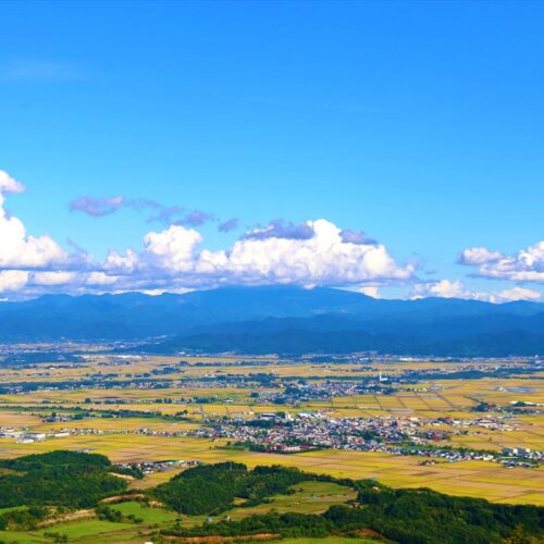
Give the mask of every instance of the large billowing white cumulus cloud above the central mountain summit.
[[(288, 230), (290, 231), (290, 227)], [(345, 285), (408, 281), (413, 269), (400, 267), (383, 245), (346, 243), (341, 230), (325, 220), (305, 223), (304, 237), (244, 237), (227, 250), (201, 249), (194, 228), (171, 225), (144, 237), (144, 250), (111, 252), (106, 268), (112, 274), (138, 270), (154, 282), (169, 276), (178, 286), (202, 284)], [(269, 233), (270, 234), (270, 233)], [(281, 230), (276, 234), (285, 235)]]

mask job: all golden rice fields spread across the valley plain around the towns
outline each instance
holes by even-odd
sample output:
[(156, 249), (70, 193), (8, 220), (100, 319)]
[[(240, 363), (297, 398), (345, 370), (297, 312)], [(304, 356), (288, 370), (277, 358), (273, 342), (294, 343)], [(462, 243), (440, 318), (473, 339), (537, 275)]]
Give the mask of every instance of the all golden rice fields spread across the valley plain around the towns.
[[(240, 364), (228, 366), (238, 358), (189, 358), (189, 357), (146, 357), (134, 359), (129, 364), (100, 364), (109, 360), (99, 354), (87, 354), (87, 362), (79, 366), (44, 364), (39, 369), (24, 370), (1, 369), (0, 386), (9, 381), (55, 382), (86, 379), (90, 374), (118, 373), (115, 380), (125, 380), (126, 374), (140, 376), (164, 364), (174, 364), (181, 359), (189, 366), (183, 367), (175, 375), (156, 376), (158, 381), (170, 379), (221, 376), (227, 373), (244, 374), (267, 372), (279, 378), (316, 376), (332, 379), (376, 374), (394, 374), (399, 371), (396, 366), (385, 362), (361, 369), (358, 364), (314, 364), (311, 362), (293, 362), (277, 358), (256, 358), (251, 361), (265, 361), (267, 367)], [(213, 363), (215, 366), (196, 366), (196, 363)], [(452, 363), (449, 363), (452, 364)], [(479, 368), (484, 362), (474, 363)], [(408, 360), (404, 368), (430, 370), (444, 363), (432, 361)], [(524, 388), (528, 387), (526, 391)], [(516, 391), (521, 387), (523, 392)], [(406, 417), (418, 418), (423, 422), (437, 418), (473, 420), (485, 417), (481, 412), (471, 411), (478, 403), (485, 401), (500, 406), (523, 400), (526, 403), (544, 404), (544, 376), (481, 379), (481, 380), (438, 380), (407, 385), (406, 391), (397, 391), (393, 395), (355, 395), (335, 397), (331, 400), (301, 403), (297, 407), (288, 407), (292, 413), (298, 411), (325, 410), (335, 417)], [(208, 417), (243, 417), (250, 418), (263, 411), (283, 409), (277, 406), (257, 404), (249, 395), (250, 388), (210, 388), (210, 387), (119, 387), (110, 390), (41, 390), (32, 394), (0, 395), (0, 426), (26, 428), (33, 432), (60, 432), (62, 430), (92, 430), (97, 434), (48, 438), (32, 444), (16, 443), (13, 438), (0, 438), (0, 457), (15, 457), (30, 453), (52, 449), (81, 449), (104, 454), (113, 461), (141, 461), (184, 459), (202, 462), (217, 462), (232, 459), (257, 465), (280, 463), (327, 473), (335, 477), (355, 479), (374, 478), (392, 486), (431, 487), (454, 495), (469, 495), (486, 498), (492, 502), (539, 504), (544, 505), (544, 469), (514, 468), (507, 469), (496, 462), (463, 461), (441, 462), (433, 466), (421, 466), (420, 457), (393, 456), (386, 454), (360, 453), (347, 450), (322, 450), (297, 455), (275, 455), (233, 449), (223, 449), (225, 441), (211, 442), (203, 438), (186, 436), (160, 436), (136, 434), (141, 429), (150, 432), (186, 432), (198, 426)], [(261, 392), (272, 391), (262, 388)], [(217, 397), (210, 404), (196, 404), (188, 400), (195, 397)], [(90, 399), (90, 403), (86, 403)], [(158, 399), (172, 399), (174, 403), (158, 403)], [(227, 401), (228, 400), (228, 401)], [(104, 405), (103, 403), (108, 403)], [(137, 410), (173, 415), (186, 410), (188, 421), (169, 421), (161, 418), (90, 418), (67, 422), (46, 422), (40, 415), (49, 413), (51, 406), (73, 408), (94, 408), (98, 410)], [(25, 409), (25, 410), (23, 410)], [(496, 431), (483, 426), (471, 426), (469, 434), (452, 435), (449, 444), (477, 449), (500, 450), (503, 447), (522, 446), (530, 449), (544, 449), (544, 415), (517, 415), (509, 420), (512, 431)], [(429, 426), (441, 429), (441, 426)], [(447, 428), (444, 428), (447, 429)], [(154, 485), (166, 481), (175, 472), (158, 472), (147, 477), (135, 485)]]

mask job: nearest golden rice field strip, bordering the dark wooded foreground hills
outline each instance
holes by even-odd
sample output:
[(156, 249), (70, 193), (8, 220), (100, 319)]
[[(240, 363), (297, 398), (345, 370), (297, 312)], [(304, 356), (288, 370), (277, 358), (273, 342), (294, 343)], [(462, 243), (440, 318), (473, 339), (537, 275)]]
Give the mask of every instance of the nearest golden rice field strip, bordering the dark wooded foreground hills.
[[(123, 420), (120, 420), (123, 421)], [(463, 461), (420, 466), (418, 457), (385, 454), (323, 450), (297, 455), (275, 455), (222, 449), (214, 443), (193, 437), (163, 437), (134, 434), (102, 434), (51, 438), (34, 444), (0, 440), (0, 457), (16, 457), (53, 449), (78, 449), (107, 455), (113, 461), (183, 459), (201, 462), (235, 460), (249, 467), (285, 465), (354, 479), (373, 478), (392, 486), (431, 487), (453, 495), (469, 495), (492, 502), (544, 505), (544, 469), (507, 469), (495, 462)], [(166, 480), (153, 474), (149, 485)], [(140, 485), (146, 485), (144, 481)]]

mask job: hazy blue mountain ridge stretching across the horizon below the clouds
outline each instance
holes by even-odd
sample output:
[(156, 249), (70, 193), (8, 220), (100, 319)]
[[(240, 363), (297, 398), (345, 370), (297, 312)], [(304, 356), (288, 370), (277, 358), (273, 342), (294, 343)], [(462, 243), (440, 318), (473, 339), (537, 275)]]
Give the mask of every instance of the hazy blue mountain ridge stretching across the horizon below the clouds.
[(544, 305), (386, 300), (332, 288), (228, 287), (185, 295), (46, 295), (0, 304), (0, 342), (169, 336), (173, 353), (544, 354)]

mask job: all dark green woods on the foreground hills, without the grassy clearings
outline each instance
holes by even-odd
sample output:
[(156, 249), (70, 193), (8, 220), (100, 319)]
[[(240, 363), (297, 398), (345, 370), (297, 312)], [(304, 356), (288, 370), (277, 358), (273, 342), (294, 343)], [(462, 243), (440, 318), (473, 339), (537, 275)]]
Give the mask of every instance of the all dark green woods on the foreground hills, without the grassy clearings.
[[(100, 519), (140, 520), (123, 517), (100, 500), (126, 491), (127, 483), (111, 475), (119, 472), (107, 457), (73, 452), (52, 452), (0, 461), (0, 530), (32, 528), (73, 508), (97, 508)], [(238, 507), (267, 503), (270, 497), (293, 493), (305, 481), (334, 482), (354, 489), (357, 498), (332, 506), (322, 515), (296, 512), (254, 515), (240, 520), (207, 522), (194, 528), (178, 523), (163, 536), (281, 537), (356, 536), (366, 532), (400, 544), (532, 544), (544, 542), (544, 508), (492, 504), (484, 499), (452, 497), (428, 489), (393, 490), (373, 480), (354, 481), (305, 473), (296, 468), (257, 467), (222, 462), (190, 468), (168, 483), (147, 490), (147, 499), (159, 500), (189, 516), (217, 516)], [(239, 505), (235, 499), (244, 498)], [(144, 499), (146, 500), (146, 499)], [(0, 537), (1, 541), (1, 537)]]

